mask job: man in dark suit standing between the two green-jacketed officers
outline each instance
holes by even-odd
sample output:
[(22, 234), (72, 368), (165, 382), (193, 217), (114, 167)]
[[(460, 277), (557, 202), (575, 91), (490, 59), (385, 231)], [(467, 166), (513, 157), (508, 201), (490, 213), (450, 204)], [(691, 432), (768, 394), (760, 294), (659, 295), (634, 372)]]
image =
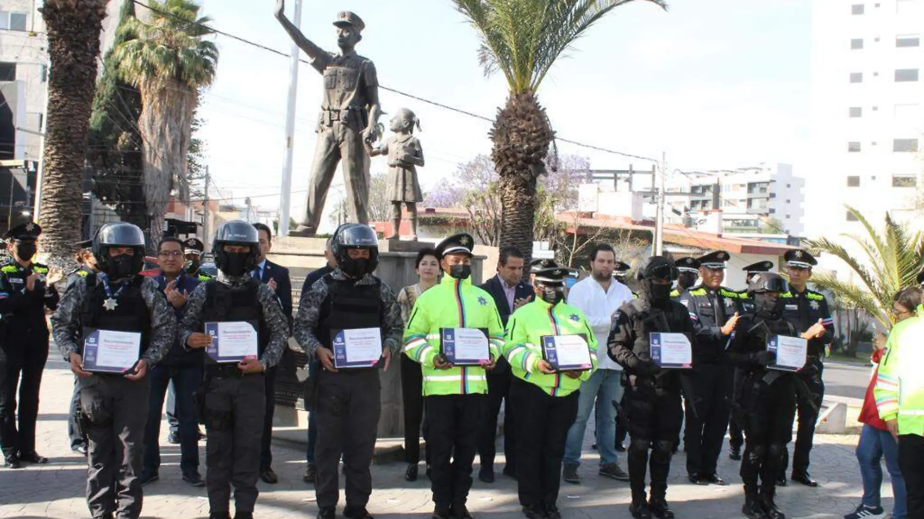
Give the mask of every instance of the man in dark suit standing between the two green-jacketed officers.
[[(494, 298), (497, 312), (501, 322), (507, 325), (510, 314), (517, 308), (529, 303), (535, 293), (529, 284), (521, 281), (523, 278), (523, 253), (517, 247), (503, 247), (500, 250), (500, 259), (497, 261), (497, 275), (489, 279), (480, 288)], [(497, 434), (497, 414), (501, 411), (501, 402), (504, 401), (504, 453), (506, 465), (504, 474), (517, 477), (517, 442), (514, 439), (514, 413), (510, 408), (507, 397), (510, 391), (510, 365), (507, 359), (501, 356), (497, 360), (497, 368), (488, 372), (488, 402), (490, 409), (485, 420), (481, 437), (478, 441), (478, 453), (481, 459), (481, 469), (478, 478), (485, 483), (494, 481), (494, 455), (497, 453), (494, 443)]]

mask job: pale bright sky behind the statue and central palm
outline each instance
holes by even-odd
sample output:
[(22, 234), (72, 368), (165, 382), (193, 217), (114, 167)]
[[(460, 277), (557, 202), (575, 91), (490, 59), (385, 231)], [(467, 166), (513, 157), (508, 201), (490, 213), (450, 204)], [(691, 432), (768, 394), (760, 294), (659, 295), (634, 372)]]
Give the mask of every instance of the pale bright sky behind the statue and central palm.
[[(288, 52), (291, 43), (273, 18), (273, 6), (272, 0), (205, 0), (203, 13), (219, 30)], [(331, 22), (343, 9), (366, 22), (358, 51), (375, 63), (383, 86), (487, 116), (505, 102), (503, 77), (484, 78), (476, 33), (450, 0), (305, 0), (302, 30), (335, 50)], [(291, 16), (292, 0), (286, 12)], [(543, 82), (540, 100), (560, 137), (647, 157), (666, 151), (672, 169), (759, 162), (798, 168), (808, 144), (810, 14), (806, 0), (676, 0), (667, 12), (634, 2), (578, 40)], [(223, 36), (215, 41), (221, 49), (218, 77), (201, 107), (215, 183), (224, 196), (250, 196), (274, 209), (288, 59)], [(386, 112), (407, 107), (421, 120), (425, 188), (451, 175), (456, 163), (491, 149), (485, 121), (387, 91), (381, 97)], [(292, 187), (297, 217), (320, 103), (320, 77), (303, 64)], [(589, 157), (594, 168), (633, 162), (569, 144), (559, 150)], [(384, 167), (381, 159), (372, 163), (373, 172)], [(329, 206), (337, 185), (342, 189), (339, 178)]]

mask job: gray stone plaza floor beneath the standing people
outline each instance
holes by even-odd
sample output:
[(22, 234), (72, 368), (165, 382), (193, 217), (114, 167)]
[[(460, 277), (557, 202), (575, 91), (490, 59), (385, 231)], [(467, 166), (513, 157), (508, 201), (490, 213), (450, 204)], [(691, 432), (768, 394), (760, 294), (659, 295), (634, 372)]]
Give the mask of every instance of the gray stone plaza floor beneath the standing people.
[[(73, 387), (73, 376), (67, 365), (52, 356), (45, 370), (42, 404), (38, 427), (38, 449), (51, 458), (49, 465), (30, 465), (21, 470), (0, 469), (0, 517), (89, 517), (84, 501), (86, 462), (67, 448), (67, 405)], [(165, 427), (162, 428), (165, 437)], [(580, 474), (582, 485), (563, 482), (559, 506), (565, 518), (630, 517), (628, 483), (614, 481), (596, 474), (597, 456), (590, 450), (592, 441), (585, 441), (584, 464)], [(821, 483), (818, 489), (808, 489), (790, 482), (780, 489), (778, 504), (788, 517), (842, 517), (852, 512), (859, 501), (861, 482), (854, 456), (855, 435), (819, 435), (812, 451), (811, 473)], [(179, 448), (162, 441), (164, 465), (160, 481), (144, 489), (142, 517), (199, 518), (208, 516), (205, 489), (189, 487), (180, 479)], [(727, 447), (726, 447), (727, 448)], [(201, 444), (201, 472), (204, 477), (204, 442)], [(486, 485), (476, 479), (468, 506), (479, 519), (523, 517), (517, 503), (517, 484), (499, 473), (503, 459), (497, 462), (497, 481)], [(620, 465), (626, 468), (625, 459)], [(732, 518), (740, 513), (742, 488), (737, 476), (738, 464), (723, 451), (720, 474), (732, 485), (728, 487), (698, 487), (686, 479), (684, 454), (678, 453), (672, 464), (668, 501), (678, 518)], [(314, 490), (302, 482), (305, 468), (304, 452), (292, 444), (274, 444), (274, 469), (279, 475), (277, 485), (260, 483), (257, 517), (314, 517)], [(377, 518), (429, 518), (432, 513), (430, 481), (420, 467), (418, 481), (404, 480), (405, 465), (401, 463), (374, 465), (369, 510)], [(475, 466), (477, 475), (478, 465)], [(892, 489), (882, 486), (883, 506), (892, 508)], [(343, 480), (341, 479), (341, 488)], [(341, 499), (341, 510), (343, 500)], [(339, 511), (338, 511), (339, 513)], [(338, 515), (339, 517), (339, 515)]]

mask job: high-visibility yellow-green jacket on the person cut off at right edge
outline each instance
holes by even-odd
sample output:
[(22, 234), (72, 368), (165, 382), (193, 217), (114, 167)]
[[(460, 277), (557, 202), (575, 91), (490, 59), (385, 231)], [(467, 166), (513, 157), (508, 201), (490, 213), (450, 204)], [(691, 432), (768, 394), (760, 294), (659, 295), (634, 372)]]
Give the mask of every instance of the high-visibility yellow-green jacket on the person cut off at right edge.
[(918, 317), (903, 320), (889, 333), (873, 396), (883, 420), (898, 420), (898, 434), (924, 436), (924, 306)]

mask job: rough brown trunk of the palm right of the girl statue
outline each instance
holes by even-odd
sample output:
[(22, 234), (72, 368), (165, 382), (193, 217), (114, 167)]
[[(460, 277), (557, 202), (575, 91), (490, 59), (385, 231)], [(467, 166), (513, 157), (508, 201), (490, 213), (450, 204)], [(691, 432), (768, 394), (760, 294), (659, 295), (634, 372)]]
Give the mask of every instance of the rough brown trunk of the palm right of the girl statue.
[[(519, 248), (527, 264), (532, 259), (536, 182), (545, 173), (554, 137), (545, 110), (531, 91), (511, 93), (491, 130), (491, 158), (501, 179), (500, 245)], [(523, 279), (529, 280), (529, 269), (523, 270)]]

